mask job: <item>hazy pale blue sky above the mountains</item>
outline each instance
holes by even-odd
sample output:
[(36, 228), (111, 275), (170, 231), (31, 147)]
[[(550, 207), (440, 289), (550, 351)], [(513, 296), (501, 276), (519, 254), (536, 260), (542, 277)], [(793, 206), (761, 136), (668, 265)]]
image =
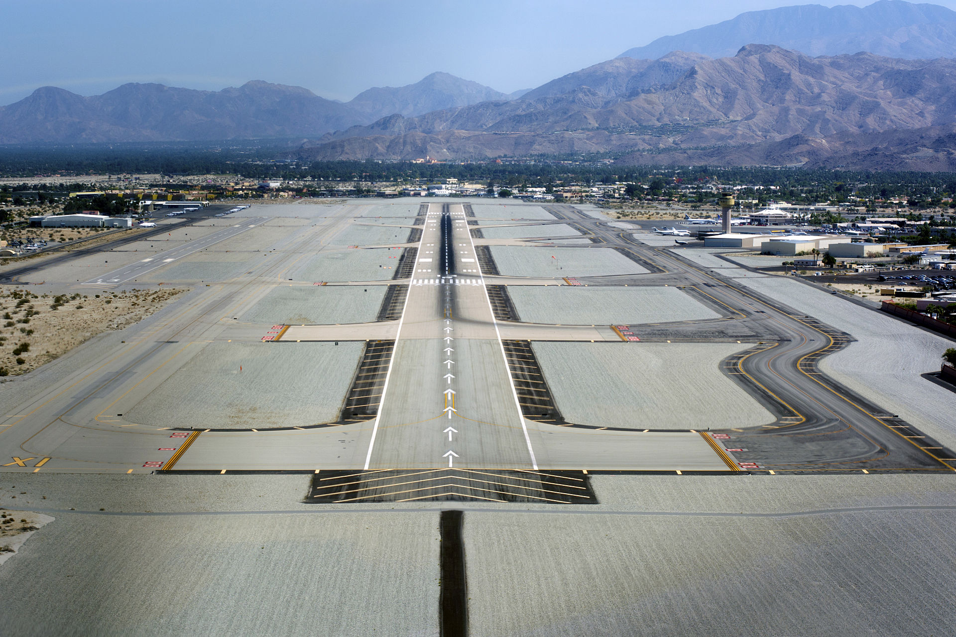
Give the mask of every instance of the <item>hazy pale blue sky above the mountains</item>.
[(219, 90), (250, 79), (348, 100), (433, 71), (510, 93), (661, 35), (796, 4), (809, 3), (0, 0), (0, 104), (46, 85), (96, 95), (125, 82)]

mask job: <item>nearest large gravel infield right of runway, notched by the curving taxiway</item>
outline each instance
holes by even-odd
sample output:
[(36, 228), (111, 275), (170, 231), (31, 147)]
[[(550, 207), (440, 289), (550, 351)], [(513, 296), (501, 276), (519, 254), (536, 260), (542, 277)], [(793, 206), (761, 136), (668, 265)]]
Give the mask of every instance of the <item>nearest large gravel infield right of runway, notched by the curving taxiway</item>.
[(773, 415), (720, 372), (749, 346), (725, 343), (534, 343), (565, 419), (629, 429), (753, 427)]

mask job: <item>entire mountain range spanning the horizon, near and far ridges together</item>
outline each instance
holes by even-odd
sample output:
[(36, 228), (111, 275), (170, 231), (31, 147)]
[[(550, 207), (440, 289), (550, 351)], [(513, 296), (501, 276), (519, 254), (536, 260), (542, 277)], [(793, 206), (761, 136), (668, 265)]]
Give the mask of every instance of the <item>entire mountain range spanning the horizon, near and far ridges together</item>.
[[(763, 43), (728, 54), (752, 34)], [(288, 157), (956, 170), (956, 12), (808, 5), (669, 37), (511, 95), (443, 73), (345, 103), (263, 81), (47, 87), (0, 108), (0, 143), (305, 138)], [(658, 54), (676, 44), (688, 50)]]

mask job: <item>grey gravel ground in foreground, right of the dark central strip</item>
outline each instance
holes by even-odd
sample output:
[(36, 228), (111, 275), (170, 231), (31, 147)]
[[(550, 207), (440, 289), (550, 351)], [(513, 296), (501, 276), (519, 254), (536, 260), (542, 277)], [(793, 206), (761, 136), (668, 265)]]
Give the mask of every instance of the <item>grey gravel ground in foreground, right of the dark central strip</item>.
[(930, 635), (956, 619), (940, 584), (953, 511), (465, 520), (475, 635)]

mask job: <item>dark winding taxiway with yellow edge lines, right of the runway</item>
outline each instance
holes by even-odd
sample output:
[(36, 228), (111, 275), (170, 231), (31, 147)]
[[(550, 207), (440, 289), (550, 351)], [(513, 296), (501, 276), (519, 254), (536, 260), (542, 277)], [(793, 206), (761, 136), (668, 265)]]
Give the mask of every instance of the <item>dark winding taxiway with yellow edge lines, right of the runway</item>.
[[(727, 372), (777, 414), (778, 421), (757, 430), (728, 430), (728, 447), (745, 449), (734, 457), (750, 469), (785, 471), (858, 471), (894, 469), (956, 471), (956, 462), (939, 443), (915, 432), (815, 370), (815, 361), (852, 338), (736, 285), (675, 254), (670, 246), (651, 247), (633, 231), (560, 206), (573, 226), (621, 250), (678, 274), (767, 341)], [(574, 221), (573, 221), (574, 220)], [(661, 337), (660, 332), (656, 332)], [(686, 336), (685, 333), (682, 335)], [(714, 429), (719, 429), (715, 423)]]

